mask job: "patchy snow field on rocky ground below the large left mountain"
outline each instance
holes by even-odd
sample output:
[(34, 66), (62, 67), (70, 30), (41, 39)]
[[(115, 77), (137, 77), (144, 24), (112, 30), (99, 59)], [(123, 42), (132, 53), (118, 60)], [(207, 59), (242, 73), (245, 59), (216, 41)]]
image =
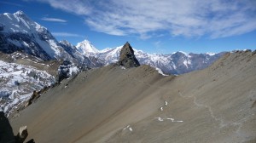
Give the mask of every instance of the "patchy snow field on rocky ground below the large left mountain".
[(5, 113), (28, 100), (34, 90), (55, 83), (55, 77), (32, 66), (7, 63), (0, 60), (0, 103)]

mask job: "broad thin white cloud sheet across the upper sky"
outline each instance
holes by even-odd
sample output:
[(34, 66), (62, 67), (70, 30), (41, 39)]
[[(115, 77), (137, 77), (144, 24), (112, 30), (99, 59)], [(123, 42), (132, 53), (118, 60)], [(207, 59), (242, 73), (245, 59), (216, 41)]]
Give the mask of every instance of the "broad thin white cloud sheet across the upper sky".
[(168, 31), (172, 36), (230, 37), (256, 29), (256, 1), (253, 0), (87, 0), (49, 3), (55, 9), (84, 15), (95, 31), (141, 38)]

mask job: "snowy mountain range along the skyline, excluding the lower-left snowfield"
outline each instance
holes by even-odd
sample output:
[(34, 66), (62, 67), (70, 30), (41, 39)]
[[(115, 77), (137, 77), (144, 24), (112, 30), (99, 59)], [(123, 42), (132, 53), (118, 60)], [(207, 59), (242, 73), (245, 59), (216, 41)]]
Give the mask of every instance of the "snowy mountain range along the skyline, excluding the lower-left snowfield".
[[(20, 51), (41, 60), (69, 60), (77, 65), (100, 67), (116, 62), (122, 47), (99, 50), (88, 40), (76, 46), (66, 40), (58, 42), (47, 28), (28, 18), (22, 11), (0, 14), (0, 21), (0, 51), (5, 54)], [(201, 70), (224, 54), (147, 54), (134, 50), (140, 64), (153, 66), (166, 74)]]

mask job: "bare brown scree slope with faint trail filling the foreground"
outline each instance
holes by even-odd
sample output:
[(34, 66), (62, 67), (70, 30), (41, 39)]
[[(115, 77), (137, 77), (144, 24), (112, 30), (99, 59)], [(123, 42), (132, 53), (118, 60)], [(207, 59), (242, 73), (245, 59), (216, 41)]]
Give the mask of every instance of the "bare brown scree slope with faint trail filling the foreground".
[(105, 66), (64, 80), (11, 120), (40, 143), (255, 142), (256, 54), (162, 77)]

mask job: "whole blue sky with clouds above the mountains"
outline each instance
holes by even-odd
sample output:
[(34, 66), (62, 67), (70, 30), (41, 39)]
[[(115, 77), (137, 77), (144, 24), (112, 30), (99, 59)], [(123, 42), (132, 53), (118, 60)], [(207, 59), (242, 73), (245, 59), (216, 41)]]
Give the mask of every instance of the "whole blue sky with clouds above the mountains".
[(126, 41), (151, 54), (256, 49), (255, 0), (6, 0), (0, 8), (22, 10), (59, 41), (86, 38), (97, 49)]

